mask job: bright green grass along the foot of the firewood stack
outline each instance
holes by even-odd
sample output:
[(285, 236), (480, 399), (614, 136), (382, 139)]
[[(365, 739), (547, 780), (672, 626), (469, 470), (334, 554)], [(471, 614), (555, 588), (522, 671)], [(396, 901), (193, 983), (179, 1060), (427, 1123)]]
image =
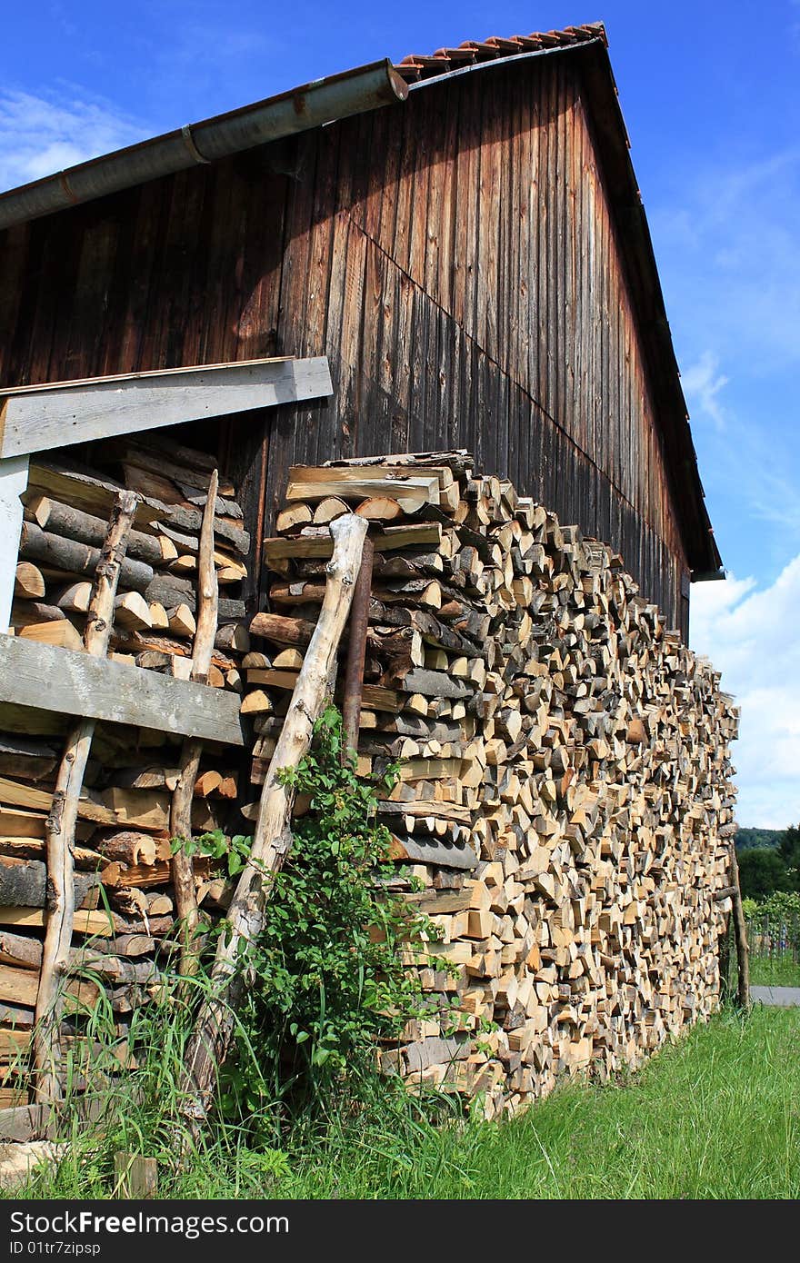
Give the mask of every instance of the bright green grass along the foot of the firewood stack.
[[(85, 1148), (27, 1196), (107, 1197), (111, 1149)], [(166, 1154), (164, 1154), (166, 1157)], [(281, 1151), (222, 1134), (164, 1197), (794, 1199), (800, 1010), (724, 1013), (624, 1084), (574, 1082), (504, 1123), (433, 1127), (387, 1096)]]

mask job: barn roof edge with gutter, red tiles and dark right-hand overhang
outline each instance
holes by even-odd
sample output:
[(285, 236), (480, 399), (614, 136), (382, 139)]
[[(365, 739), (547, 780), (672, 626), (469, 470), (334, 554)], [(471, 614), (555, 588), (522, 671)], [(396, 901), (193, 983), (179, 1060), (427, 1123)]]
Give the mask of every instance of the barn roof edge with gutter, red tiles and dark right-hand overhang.
[(652, 239), (607, 49), (604, 25), (590, 23), (530, 35), (465, 40), (455, 48), (440, 48), (431, 54), (412, 53), (394, 66), (382, 61), (316, 80), (291, 92), (139, 141), (0, 193), (0, 230), (196, 163), (215, 162), (296, 131), (402, 101), (408, 92), (427, 90), (461, 75), (552, 54), (569, 56), (580, 64), (586, 90), (693, 578), (723, 577)]

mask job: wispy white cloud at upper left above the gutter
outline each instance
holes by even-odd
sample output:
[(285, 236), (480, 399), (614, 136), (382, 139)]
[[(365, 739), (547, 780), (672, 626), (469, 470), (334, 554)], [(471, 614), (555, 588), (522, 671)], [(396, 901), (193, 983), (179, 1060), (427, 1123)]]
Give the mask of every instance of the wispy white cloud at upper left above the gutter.
[(0, 91), (0, 188), (142, 140), (148, 129), (109, 101), (68, 86), (47, 96)]

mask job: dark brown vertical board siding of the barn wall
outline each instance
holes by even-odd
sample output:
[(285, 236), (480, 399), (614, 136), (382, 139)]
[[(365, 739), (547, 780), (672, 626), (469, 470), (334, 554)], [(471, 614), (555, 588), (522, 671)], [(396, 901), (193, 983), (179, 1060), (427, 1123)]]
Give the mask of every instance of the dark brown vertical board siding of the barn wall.
[(656, 402), (569, 58), (10, 230), (0, 328), (6, 385), (327, 355), (332, 400), (229, 436), (253, 515), (292, 461), (469, 447), (615, 544), (685, 630)]

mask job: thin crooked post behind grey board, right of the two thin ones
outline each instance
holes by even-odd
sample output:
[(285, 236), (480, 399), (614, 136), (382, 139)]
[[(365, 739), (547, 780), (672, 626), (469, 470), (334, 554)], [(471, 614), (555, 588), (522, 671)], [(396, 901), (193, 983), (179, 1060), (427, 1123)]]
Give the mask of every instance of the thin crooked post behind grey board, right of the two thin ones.
[[(214, 638), (216, 637), (219, 586), (214, 565), (214, 506), (217, 486), (219, 474), (214, 470), (202, 515), (197, 561), (197, 629), (192, 645), (191, 678), (198, 685), (205, 685), (209, 681)], [(192, 798), (201, 755), (202, 741), (198, 738), (188, 738), (181, 750), (181, 775), (173, 791), (169, 808), (172, 836), (185, 837), (187, 841), (192, 836)], [(191, 947), (200, 912), (195, 889), (195, 865), (192, 856), (183, 850), (176, 851), (172, 858), (172, 883), (174, 885), (176, 912), (181, 922), (179, 971), (183, 975), (191, 975), (197, 969), (197, 956)]]

